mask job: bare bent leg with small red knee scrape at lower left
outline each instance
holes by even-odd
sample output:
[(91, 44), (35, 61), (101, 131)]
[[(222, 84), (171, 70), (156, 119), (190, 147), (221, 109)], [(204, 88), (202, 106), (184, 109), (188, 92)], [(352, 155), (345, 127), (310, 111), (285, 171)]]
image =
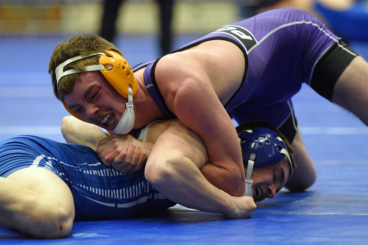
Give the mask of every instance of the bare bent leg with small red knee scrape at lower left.
[(71, 231), (74, 202), (68, 186), (44, 168), (0, 177), (0, 225), (36, 238), (63, 238)]

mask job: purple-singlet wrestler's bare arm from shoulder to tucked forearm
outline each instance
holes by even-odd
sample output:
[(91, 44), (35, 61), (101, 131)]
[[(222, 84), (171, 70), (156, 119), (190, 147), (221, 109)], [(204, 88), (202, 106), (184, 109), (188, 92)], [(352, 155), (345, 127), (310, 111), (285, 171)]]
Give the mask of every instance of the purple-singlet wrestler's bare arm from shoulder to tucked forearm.
[[(165, 65), (163, 63), (162, 67)], [(156, 81), (162, 82), (159, 87), (169, 109), (196, 132), (206, 146), (211, 164), (202, 168), (202, 174), (230, 195), (243, 195), (244, 166), (234, 124), (206, 75), (181, 75), (178, 70), (179, 74), (174, 78), (174, 75), (167, 75), (166, 70), (160, 72), (156, 67)]]

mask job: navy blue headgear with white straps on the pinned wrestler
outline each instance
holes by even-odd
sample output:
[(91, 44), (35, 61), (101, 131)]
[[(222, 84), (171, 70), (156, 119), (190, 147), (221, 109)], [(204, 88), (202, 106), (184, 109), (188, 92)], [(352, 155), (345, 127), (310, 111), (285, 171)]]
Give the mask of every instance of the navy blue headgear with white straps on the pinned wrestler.
[(277, 163), (287, 156), (291, 168), (290, 176), (293, 174), (293, 165), (286, 144), (275, 131), (265, 127), (253, 127), (238, 133), (238, 137), (244, 166), (247, 167), (245, 196), (253, 196), (253, 180), (251, 180), (253, 167)]

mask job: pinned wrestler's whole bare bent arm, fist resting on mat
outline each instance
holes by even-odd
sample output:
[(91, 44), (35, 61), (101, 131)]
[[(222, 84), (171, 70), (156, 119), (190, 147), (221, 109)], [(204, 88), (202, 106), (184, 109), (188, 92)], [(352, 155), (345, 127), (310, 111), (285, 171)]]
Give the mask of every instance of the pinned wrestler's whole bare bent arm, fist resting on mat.
[(250, 217), (256, 208), (254, 200), (230, 196), (210, 184), (199, 171), (207, 161), (201, 138), (173, 121), (153, 146), (145, 176), (166, 198), (180, 205), (222, 213), (229, 219)]

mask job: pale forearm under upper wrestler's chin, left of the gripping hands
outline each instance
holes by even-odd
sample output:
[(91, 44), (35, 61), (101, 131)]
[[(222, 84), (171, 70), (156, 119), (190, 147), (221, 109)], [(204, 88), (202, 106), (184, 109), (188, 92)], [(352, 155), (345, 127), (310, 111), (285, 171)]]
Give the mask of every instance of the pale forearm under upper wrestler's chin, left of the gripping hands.
[(72, 116), (63, 118), (61, 133), (67, 143), (89, 146), (96, 152), (98, 142), (108, 135), (98, 126), (85, 123)]

